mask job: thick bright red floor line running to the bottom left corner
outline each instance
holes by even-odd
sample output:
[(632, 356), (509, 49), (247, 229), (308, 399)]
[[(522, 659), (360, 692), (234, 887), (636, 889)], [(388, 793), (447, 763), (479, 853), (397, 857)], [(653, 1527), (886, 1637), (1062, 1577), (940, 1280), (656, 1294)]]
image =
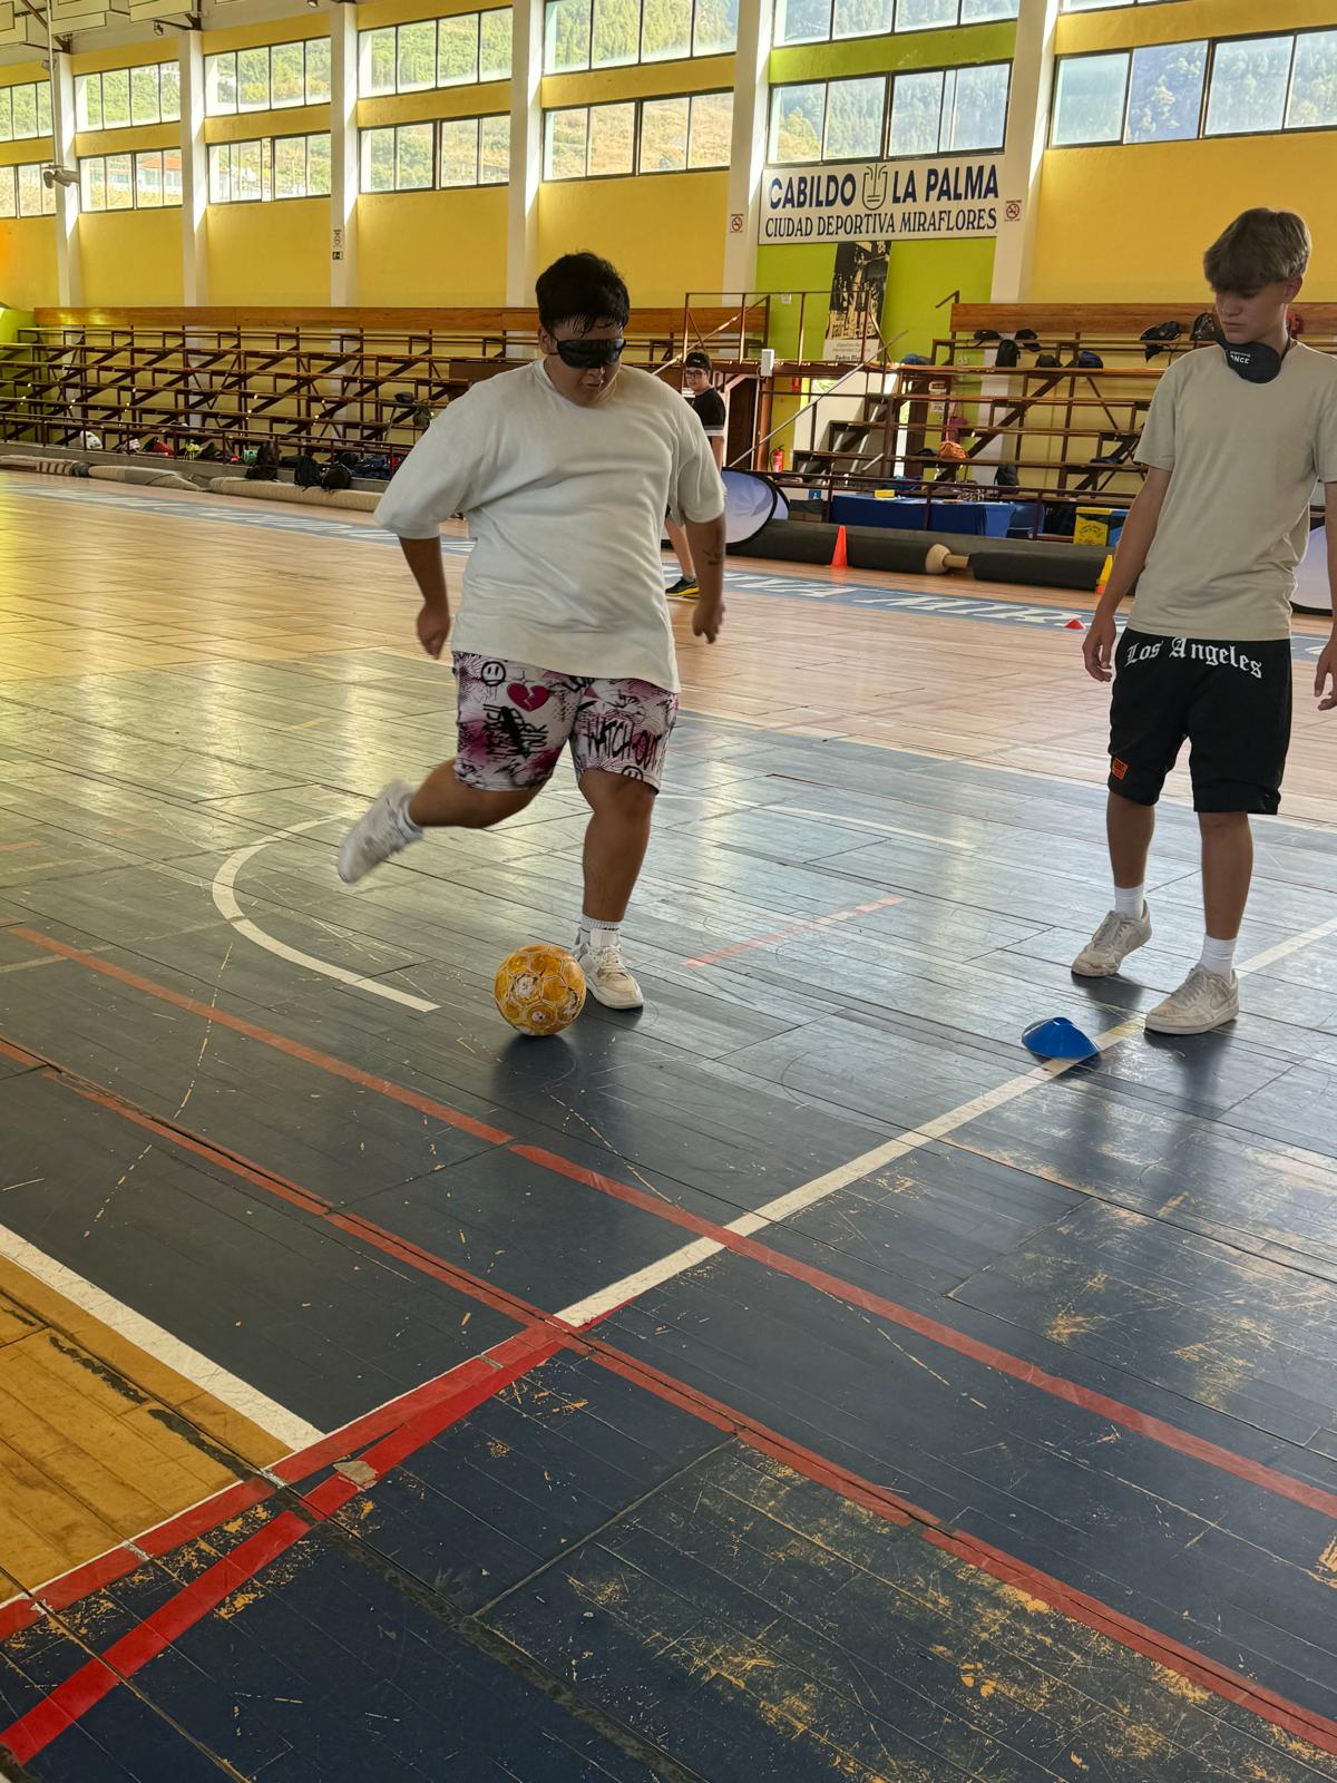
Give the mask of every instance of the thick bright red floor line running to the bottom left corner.
[[(462, 1387), (430, 1412), (412, 1419), (398, 1435), (387, 1437), (378, 1450), (371, 1450), (364, 1457), (365, 1464), (376, 1478), (383, 1478), (389, 1467), (398, 1466), (415, 1448), (449, 1430), (451, 1425), (467, 1417), (469, 1412), (501, 1393), (503, 1387), (519, 1380), (531, 1368), (538, 1368), (560, 1348), (562, 1339), (553, 1339), (547, 1330), (528, 1330), (508, 1339), (506, 1344), (494, 1352), (497, 1357), (508, 1352), (504, 1362), (492, 1368), (487, 1380)], [(175, 1598), (169, 1598), (159, 1610), (144, 1617), (128, 1635), (112, 1642), (103, 1655), (80, 1665), (71, 1678), (66, 1678), (36, 1708), (30, 1708), (27, 1715), (21, 1715), (9, 1726), (0, 1735), (0, 1744), (20, 1763), (36, 1758), (37, 1753), (45, 1751), (52, 1740), (75, 1726), (119, 1683), (134, 1678), (150, 1660), (164, 1653), (241, 1585), (250, 1583), (264, 1567), (294, 1548), (303, 1535), (308, 1535), (317, 1523), (324, 1523), (362, 1491), (365, 1487), (335, 1476), (305, 1500), (308, 1519), (299, 1517), (292, 1510), (280, 1512), (273, 1523), (267, 1523), (230, 1555), (210, 1565), (200, 1578), (178, 1590)]]

